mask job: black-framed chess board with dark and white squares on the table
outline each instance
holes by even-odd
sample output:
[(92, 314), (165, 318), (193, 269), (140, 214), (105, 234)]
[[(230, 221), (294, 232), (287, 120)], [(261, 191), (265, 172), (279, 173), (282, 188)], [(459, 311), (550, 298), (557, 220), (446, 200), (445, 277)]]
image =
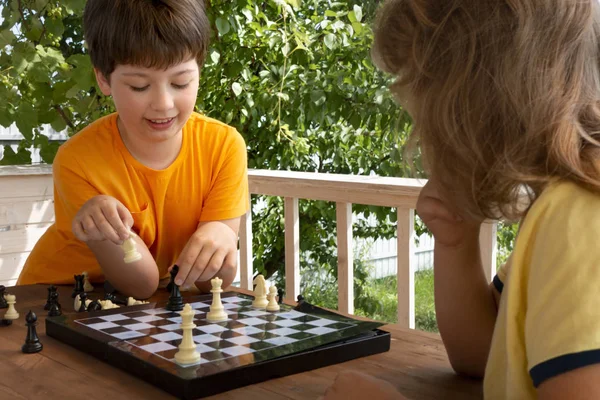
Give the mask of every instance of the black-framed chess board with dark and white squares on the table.
[(183, 399), (195, 399), (389, 350), (382, 324), (306, 302), (268, 312), (252, 298), (223, 293), (227, 320), (208, 322), (212, 295), (184, 298), (194, 310), (201, 360), (180, 365), (181, 316), (166, 302), (46, 319), (46, 334)]

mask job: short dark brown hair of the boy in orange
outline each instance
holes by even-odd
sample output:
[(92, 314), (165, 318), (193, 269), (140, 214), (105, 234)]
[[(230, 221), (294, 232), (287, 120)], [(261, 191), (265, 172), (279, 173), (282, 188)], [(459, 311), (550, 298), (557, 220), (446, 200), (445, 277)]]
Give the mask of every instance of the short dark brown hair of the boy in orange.
[(195, 58), (202, 66), (210, 39), (204, 0), (88, 0), (83, 28), (107, 79), (120, 64), (166, 69)]

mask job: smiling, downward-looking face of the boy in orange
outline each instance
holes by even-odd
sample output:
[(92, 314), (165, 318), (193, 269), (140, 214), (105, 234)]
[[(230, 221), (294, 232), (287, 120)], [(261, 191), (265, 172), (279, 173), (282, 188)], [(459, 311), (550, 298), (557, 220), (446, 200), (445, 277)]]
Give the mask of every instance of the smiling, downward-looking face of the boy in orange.
[(96, 72), (102, 93), (112, 95), (129, 140), (162, 142), (181, 133), (192, 114), (199, 84), (195, 59), (166, 70), (118, 65), (110, 82)]

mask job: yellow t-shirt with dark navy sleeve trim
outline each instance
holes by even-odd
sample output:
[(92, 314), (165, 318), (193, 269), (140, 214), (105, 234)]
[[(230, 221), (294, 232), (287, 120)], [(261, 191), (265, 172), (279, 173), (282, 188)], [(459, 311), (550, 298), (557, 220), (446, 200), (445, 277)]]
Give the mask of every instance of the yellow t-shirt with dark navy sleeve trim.
[(547, 379), (600, 363), (599, 238), (600, 195), (557, 182), (535, 201), (494, 280), (486, 399), (535, 399)]

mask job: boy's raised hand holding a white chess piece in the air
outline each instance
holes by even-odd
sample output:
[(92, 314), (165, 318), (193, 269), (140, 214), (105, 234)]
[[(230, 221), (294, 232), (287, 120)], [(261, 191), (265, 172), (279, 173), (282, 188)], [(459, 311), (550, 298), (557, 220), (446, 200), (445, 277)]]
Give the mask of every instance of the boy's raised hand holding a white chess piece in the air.
[(119, 200), (99, 195), (89, 199), (73, 219), (75, 236), (83, 241), (110, 240), (121, 245), (129, 238), (133, 217)]

